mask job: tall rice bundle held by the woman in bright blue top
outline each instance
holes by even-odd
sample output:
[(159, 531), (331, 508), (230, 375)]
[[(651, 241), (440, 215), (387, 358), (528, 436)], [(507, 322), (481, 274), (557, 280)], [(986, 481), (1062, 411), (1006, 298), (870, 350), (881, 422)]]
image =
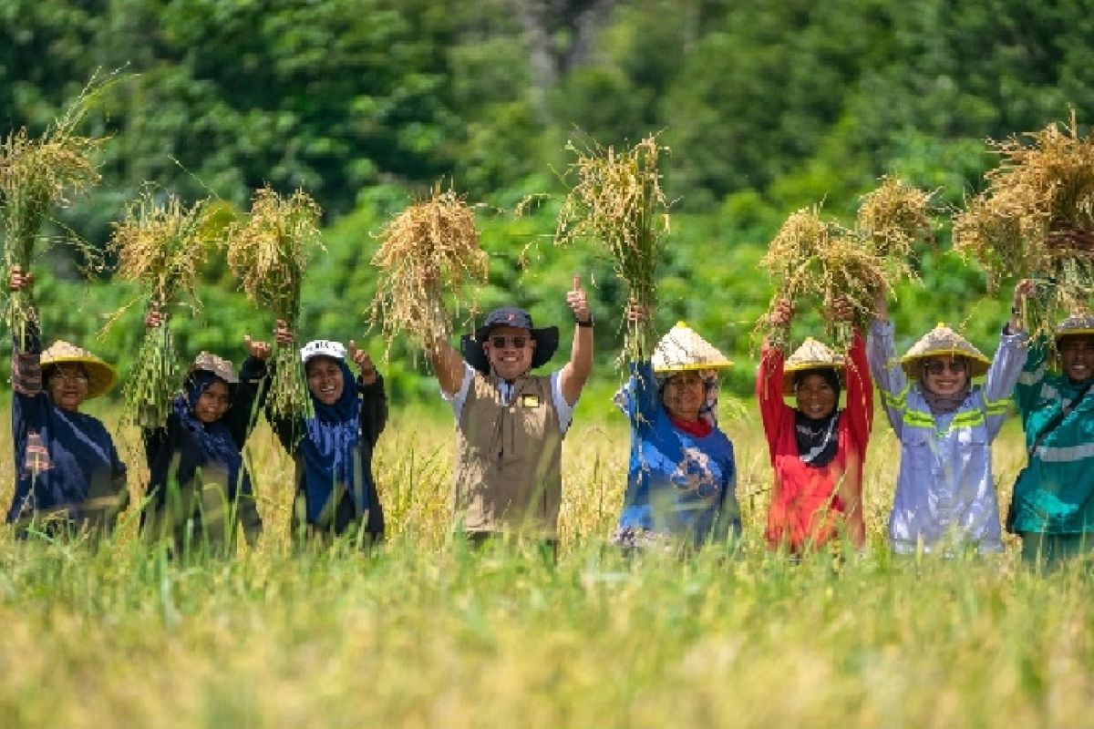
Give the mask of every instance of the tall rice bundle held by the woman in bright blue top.
[[(643, 310), (656, 304), (656, 266), (663, 235), (668, 233), (668, 203), (661, 189), (657, 155), (667, 152), (655, 137), (631, 149), (566, 148), (578, 158), (568, 173), (577, 176), (558, 212), (555, 243), (591, 237), (607, 248), (616, 274)], [(626, 318), (625, 318), (626, 319)], [(653, 320), (628, 321), (624, 355), (631, 361), (649, 357), (657, 342)]]

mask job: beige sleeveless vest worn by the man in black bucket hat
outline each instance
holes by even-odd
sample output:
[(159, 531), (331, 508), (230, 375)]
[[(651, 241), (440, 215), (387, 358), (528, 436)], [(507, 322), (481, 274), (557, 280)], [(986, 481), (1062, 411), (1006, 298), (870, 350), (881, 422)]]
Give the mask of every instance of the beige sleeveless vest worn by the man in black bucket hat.
[(562, 434), (549, 376), (521, 377), (504, 404), (476, 373), (459, 414), (455, 508), (468, 532), (552, 538), (562, 502)]

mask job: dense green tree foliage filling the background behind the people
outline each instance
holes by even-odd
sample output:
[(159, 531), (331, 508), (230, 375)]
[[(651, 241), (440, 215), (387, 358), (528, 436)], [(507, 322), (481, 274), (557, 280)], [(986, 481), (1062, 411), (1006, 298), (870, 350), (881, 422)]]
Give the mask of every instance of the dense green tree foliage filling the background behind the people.
[[(303, 336), (361, 339), (370, 233), (451, 179), (485, 203), (485, 304), (515, 298), (561, 320), (570, 275), (595, 274), (605, 363), (618, 351), (622, 304), (608, 263), (551, 248), (552, 203), (519, 221), (503, 211), (525, 193), (562, 190), (568, 137), (621, 143), (663, 130), (678, 214), (659, 327), (687, 317), (747, 361), (770, 295), (755, 263), (790, 212), (824, 200), (849, 217), (885, 173), (958, 204), (993, 164), (986, 138), (1062, 120), (1069, 104), (1081, 122), (1094, 116), (1092, 10), (1016, 0), (8, 0), (0, 129), (39, 131), (96, 69), (119, 69), (85, 130), (112, 137), (104, 184), (60, 221), (96, 246), (143, 180), (237, 208), (265, 183), (304, 186), (325, 210), (328, 252), (305, 289)], [(943, 250), (947, 235), (943, 226)], [(43, 277), (38, 298), (57, 336), (90, 341), (127, 295), (106, 279), (75, 285), (67, 255), (40, 268), (56, 277)], [(938, 319), (967, 320), (992, 349), (1003, 306), (978, 303), (979, 272), (933, 252), (921, 270), (926, 287), (906, 286), (894, 307), (903, 340)], [(201, 317), (177, 324), (179, 348), (238, 356), (242, 334), (268, 330), (269, 317), (249, 311), (222, 260), (205, 284)], [(124, 369), (137, 321), (95, 344)], [(405, 354), (392, 365), (399, 395), (420, 387)], [(749, 371), (733, 376), (738, 389)]]

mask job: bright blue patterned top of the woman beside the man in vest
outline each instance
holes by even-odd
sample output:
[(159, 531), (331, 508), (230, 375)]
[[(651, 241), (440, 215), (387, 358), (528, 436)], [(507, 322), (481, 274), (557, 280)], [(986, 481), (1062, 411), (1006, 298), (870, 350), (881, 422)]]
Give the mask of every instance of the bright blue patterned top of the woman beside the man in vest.
[(619, 526), (687, 536), (696, 545), (740, 531), (733, 444), (714, 427), (706, 437), (673, 425), (649, 362), (631, 365), (624, 389), (630, 418), (630, 466)]

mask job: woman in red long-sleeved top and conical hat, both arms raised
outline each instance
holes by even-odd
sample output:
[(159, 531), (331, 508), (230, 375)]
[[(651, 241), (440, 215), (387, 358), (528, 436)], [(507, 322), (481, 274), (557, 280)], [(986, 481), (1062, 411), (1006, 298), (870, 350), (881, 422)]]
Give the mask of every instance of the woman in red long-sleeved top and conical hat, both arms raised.
[[(836, 316), (851, 319), (838, 298)], [(789, 328), (790, 302), (780, 302), (772, 324)], [(847, 407), (839, 405), (840, 376)], [(795, 407), (783, 398), (795, 398)], [(756, 379), (764, 433), (775, 483), (767, 515), (767, 541), (794, 554), (821, 546), (841, 534), (861, 549), (862, 467), (873, 423), (873, 386), (862, 334), (856, 330), (847, 356), (808, 338), (788, 358), (765, 342)]]

